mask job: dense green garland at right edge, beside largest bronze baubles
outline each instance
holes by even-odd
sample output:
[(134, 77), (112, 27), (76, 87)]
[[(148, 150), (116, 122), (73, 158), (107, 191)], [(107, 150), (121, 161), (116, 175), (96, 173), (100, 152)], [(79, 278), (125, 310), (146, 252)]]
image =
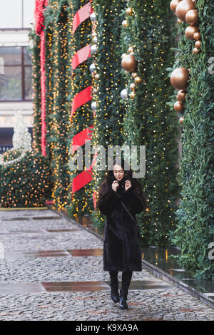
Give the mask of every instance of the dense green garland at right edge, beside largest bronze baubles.
[[(198, 0), (196, 8), (202, 41), (198, 55), (193, 55), (194, 42), (185, 37), (188, 24), (178, 25), (182, 37), (174, 68), (190, 68), (190, 81), (183, 113), (179, 172), (182, 200), (175, 213), (178, 224), (172, 241), (181, 249), (177, 260), (185, 269), (195, 277), (214, 279), (214, 262), (208, 257), (208, 245), (214, 241), (214, 75), (209, 63), (214, 56), (213, 1)], [(174, 102), (175, 96), (172, 105)]]

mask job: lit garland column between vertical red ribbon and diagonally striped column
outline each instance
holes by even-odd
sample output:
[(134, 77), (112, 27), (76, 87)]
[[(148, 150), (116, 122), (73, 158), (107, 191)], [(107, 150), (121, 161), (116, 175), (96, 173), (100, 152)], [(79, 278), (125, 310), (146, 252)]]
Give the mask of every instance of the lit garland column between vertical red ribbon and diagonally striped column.
[(71, 0), (51, 0), (46, 11), (47, 153), (51, 161), (54, 207), (68, 203), (68, 134), (71, 101)]

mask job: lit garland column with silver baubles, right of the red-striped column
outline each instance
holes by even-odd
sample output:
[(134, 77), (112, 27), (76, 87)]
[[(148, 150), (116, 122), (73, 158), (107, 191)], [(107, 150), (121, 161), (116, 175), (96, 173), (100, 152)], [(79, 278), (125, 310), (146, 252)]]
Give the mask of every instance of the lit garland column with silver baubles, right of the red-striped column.
[[(123, 0), (93, 0), (94, 14), (92, 31), (93, 63), (93, 102), (94, 125), (92, 145), (105, 148), (106, 170), (108, 145), (123, 145), (123, 115), (125, 110), (121, 103), (120, 92), (123, 88), (121, 73), (121, 12)], [(101, 150), (96, 153), (102, 155)], [(105, 176), (103, 170), (93, 170), (93, 225), (103, 231), (105, 217), (94, 210), (98, 187)]]

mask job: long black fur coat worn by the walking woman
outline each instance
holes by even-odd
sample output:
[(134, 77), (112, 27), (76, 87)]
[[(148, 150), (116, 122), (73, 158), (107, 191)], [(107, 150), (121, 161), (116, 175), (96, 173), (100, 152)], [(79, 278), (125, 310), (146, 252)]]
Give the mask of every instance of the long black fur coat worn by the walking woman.
[[(108, 193), (98, 201), (98, 209), (106, 215), (103, 242), (103, 269), (106, 271), (142, 271), (141, 249), (136, 224), (131, 219), (121, 200), (136, 221), (136, 213), (146, 208), (133, 187), (121, 187), (117, 192), (110, 187)], [(121, 199), (121, 200), (120, 200)]]

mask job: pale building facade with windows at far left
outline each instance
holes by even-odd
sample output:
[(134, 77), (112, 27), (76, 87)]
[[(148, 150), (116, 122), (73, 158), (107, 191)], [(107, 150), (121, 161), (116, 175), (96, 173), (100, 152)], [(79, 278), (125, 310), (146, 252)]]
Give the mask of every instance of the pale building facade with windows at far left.
[(32, 66), (29, 31), (35, 0), (0, 0), (0, 153), (12, 145), (14, 112), (33, 125)]

